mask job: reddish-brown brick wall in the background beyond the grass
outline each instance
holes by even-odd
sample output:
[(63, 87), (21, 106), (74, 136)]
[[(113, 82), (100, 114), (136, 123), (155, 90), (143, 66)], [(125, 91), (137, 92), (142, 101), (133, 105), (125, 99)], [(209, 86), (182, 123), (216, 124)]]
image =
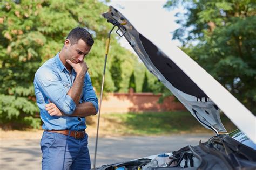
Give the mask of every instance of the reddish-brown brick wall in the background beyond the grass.
[(108, 93), (103, 98), (102, 113), (126, 113), (126, 112), (159, 112), (186, 110), (180, 102), (174, 101), (174, 97), (165, 98), (163, 103), (158, 103), (161, 94), (153, 93)]

